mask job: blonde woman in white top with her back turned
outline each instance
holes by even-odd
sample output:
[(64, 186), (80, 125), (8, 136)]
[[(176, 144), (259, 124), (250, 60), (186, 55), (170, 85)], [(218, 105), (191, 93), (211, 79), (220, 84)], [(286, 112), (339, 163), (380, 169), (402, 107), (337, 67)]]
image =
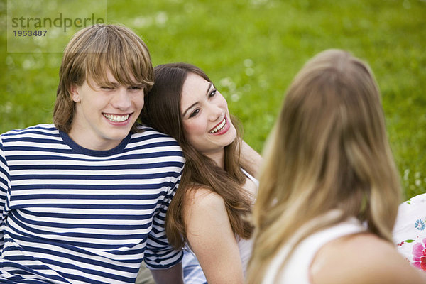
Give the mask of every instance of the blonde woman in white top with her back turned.
[(400, 185), (366, 63), (307, 62), (266, 149), (248, 283), (425, 283), (392, 244)]

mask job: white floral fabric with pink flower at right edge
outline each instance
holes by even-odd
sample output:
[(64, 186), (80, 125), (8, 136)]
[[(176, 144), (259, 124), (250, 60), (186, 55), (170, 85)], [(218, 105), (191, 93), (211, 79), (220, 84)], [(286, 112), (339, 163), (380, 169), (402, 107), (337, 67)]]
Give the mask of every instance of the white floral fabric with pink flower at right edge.
[(407, 261), (426, 271), (426, 193), (400, 204), (393, 241)]

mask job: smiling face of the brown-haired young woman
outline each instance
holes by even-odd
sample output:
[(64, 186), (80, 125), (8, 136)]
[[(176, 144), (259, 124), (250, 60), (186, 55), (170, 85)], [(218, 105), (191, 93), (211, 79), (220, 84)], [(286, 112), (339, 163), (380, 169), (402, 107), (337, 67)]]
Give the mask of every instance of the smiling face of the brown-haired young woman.
[(203, 77), (188, 73), (180, 110), (187, 140), (200, 153), (221, 153), (236, 138), (226, 99)]

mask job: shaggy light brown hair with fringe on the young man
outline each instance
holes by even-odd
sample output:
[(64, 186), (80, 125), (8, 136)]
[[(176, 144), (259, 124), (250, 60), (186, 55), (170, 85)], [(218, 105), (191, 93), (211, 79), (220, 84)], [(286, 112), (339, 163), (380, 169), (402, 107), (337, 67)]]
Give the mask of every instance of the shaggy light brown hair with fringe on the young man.
[[(91, 79), (108, 84), (107, 70), (123, 85), (143, 84), (145, 92), (153, 85), (151, 56), (143, 40), (129, 28), (116, 25), (94, 25), (77, 32), (65, 48), (59, 70), (53, 123), (69, 132), (75, 102), (70, 88)], [(88, 81), (89, 83), (89, 81)], [(133, 126), (132, 131), (136, 131)]]

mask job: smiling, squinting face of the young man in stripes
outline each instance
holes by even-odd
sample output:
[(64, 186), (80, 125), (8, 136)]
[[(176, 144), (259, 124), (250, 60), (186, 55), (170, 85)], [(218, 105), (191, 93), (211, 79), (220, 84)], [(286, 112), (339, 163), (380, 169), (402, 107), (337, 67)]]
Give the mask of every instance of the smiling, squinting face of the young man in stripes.
[[(143, 86), (123, 86), (107, 71), (109, 86), (73, 86), (75, 114), (69, 133), (84, 148), (109, 150), (129, 134), (143, 107)], [(88, 79), (90, 80), (90, 79)], [(113, 85), (114, 87), (111, 87)]]

